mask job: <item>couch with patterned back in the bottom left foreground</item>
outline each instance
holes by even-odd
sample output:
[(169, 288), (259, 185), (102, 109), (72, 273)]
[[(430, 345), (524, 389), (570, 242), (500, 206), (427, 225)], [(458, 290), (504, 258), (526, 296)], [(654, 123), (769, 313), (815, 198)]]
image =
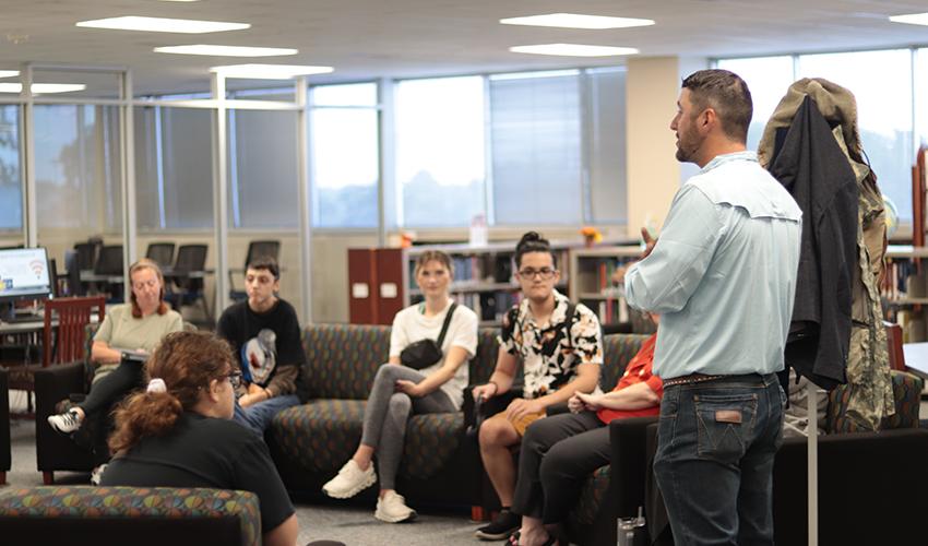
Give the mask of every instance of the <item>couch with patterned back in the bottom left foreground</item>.
[(261, 544), (249, 491), (168, 487), (0, 489), (3, 544)]

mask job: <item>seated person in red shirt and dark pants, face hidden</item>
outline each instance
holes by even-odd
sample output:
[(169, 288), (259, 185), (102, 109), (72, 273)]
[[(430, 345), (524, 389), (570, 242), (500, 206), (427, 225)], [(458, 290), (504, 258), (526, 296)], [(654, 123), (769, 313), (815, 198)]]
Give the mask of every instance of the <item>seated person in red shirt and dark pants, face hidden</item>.
[[(657, 322), (656, 314), (651, 318)], [(554, 526), (576, 503), (583, 480), (609, 464), (606, 425), (612, 419), (659, 415), (664, 387), (651, 371), (656, 342), (654, 334), (642, 344), (611, 392), (576, 393), (568, 402), (571, 413), (528, 426), (512, 502), (512, 511), (522, 515), (522, 526), (509, 537), (509, 544), (555, 544)]]

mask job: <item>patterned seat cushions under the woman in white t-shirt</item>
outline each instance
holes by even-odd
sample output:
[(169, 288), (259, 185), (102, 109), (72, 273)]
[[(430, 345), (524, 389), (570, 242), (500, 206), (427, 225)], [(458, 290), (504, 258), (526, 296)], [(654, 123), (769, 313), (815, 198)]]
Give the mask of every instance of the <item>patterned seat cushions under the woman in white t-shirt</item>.
[[(334, 474), (358, 447), (366, 401), (313, 400), (274, 417), (274, 441), (290, 460), (312, 473)], [(461, 442), (464, 414), (414, 415), (406, 427), (400, 474), (426, 479), (454, 455)]]

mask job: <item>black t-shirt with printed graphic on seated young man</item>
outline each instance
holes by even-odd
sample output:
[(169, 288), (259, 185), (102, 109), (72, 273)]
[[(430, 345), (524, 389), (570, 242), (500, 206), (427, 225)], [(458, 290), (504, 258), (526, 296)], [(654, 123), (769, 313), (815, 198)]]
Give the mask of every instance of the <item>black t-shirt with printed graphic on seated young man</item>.
[(275, 396), (297, 394), (306, 400), (301, 378), (306, 353), (290, 304), (277, 299), (269, 311), (257, 313), (248, 301), (238, 302), (223, 312), (216, 333), (231, 345), (246, 381), (270, 385)]

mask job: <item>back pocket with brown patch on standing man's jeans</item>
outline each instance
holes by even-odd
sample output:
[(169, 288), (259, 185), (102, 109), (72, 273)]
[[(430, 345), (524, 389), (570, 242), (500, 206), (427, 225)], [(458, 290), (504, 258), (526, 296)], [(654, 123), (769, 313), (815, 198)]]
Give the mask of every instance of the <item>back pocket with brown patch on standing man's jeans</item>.
[(699, 456), (737, 463), (748, 449), (758, 414), (758, 395), (697, 394)]

